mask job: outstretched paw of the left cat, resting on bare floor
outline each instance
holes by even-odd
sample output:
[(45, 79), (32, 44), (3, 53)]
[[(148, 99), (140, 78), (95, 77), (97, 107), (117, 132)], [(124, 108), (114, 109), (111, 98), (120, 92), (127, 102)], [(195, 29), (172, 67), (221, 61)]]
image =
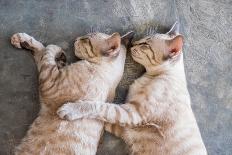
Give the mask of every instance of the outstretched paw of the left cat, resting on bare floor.
[(16, 48), (29, 49), (32, 46), (33, 38), (26, 33), (16, 33), (11, 37), (11, 44)]

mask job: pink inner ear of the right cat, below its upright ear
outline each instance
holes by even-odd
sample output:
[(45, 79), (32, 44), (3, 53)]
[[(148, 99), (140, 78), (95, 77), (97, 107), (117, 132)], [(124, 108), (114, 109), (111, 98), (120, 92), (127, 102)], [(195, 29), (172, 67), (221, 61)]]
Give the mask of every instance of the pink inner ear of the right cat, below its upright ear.
[(183, 36), (178, 35), (171, 40), (166, 40), (167, 48), (167, 56), (172, 58), (176, 55), (179, 55), (183, 46)]

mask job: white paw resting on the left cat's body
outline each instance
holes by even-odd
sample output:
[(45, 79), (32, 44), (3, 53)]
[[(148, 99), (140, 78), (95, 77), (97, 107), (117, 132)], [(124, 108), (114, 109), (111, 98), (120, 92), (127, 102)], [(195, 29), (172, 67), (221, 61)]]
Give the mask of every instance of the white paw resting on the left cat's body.
[(66, 119), (69, 121), (78, 119), (78, 115), (74, 111), (75, 105), (73, 103), (66, 103), (57, 110), (57, 115), (61, 119)]

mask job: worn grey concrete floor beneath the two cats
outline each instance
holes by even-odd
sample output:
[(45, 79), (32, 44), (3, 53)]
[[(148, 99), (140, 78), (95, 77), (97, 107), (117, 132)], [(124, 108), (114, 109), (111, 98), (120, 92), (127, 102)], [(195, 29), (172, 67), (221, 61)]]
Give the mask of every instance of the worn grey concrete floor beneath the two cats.
[[(164, 32), (175, 20), (185, 36), (184, 54), (192, 107), (210, 155), (232, 154), (232, 0), (0, 0), (0, 155), (12, 154), (39, 109), (32, 57), (10, 44), (26, 32), (67, 51), (92, 30), (137, 37)], [(117, 102), (143, 68), (127, 58)], [(105, 134), (98, 154), (126, 154), (125, 144)]]

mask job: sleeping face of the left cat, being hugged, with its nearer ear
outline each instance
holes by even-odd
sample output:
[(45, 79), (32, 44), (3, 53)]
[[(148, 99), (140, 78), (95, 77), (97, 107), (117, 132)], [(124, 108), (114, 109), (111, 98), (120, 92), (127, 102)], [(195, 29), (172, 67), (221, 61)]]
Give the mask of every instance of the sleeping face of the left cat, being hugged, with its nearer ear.
[(121, 37), (119, 33), (107, 35), (104, 33), (90, 33), (78, 37), (74, 43), (75, 55), (80, 59), (98, 61), (101, 58), (110, 59), (120, 51)]

